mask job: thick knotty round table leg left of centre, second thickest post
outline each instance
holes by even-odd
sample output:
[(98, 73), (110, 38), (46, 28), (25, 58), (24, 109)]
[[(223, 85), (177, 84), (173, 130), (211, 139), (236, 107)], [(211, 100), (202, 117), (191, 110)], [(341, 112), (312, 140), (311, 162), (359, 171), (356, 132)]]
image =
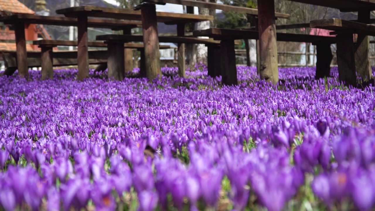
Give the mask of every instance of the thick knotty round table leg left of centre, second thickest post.
[(141, 6), (143, 43), (145, 53), (145, 69), (148, 80), (161, 78), (159, 37), (157, 33), (156, 6), (143, 4)]

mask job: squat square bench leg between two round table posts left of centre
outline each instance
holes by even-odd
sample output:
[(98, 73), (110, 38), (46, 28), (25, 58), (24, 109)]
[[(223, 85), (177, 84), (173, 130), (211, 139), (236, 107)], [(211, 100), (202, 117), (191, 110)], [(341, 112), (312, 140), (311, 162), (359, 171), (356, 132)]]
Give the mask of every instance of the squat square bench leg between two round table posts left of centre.
[(108, 42), (108, 78), (114, 80), (124, 80), (125, 63), (124, 63), (124, 44)]

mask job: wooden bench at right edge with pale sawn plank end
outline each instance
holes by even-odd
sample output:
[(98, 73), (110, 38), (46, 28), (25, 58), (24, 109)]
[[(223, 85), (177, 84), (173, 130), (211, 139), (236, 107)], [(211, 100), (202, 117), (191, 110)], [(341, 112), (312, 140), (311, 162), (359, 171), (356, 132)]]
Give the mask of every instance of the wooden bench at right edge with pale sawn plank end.
[[(356, 72), (363, 80), (372, 78), (372, 69), (369, 64), (369, 38), (375, 36), (375, 26), (354, 21), (329, 18), (310, 21), (310, 27), (333, 30), (331, 35), (337, 39), (337, 62), (339, 80), (357, 86)], [(358, 34), (357, 43), (354, 43), (353, 34)]]

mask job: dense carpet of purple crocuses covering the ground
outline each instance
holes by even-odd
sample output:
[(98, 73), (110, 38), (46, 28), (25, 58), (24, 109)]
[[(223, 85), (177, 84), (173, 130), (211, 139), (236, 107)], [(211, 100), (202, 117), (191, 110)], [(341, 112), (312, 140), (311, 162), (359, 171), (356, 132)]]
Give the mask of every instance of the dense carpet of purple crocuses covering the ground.
[(0, 206), (10, 210), (371, 210), (375, 88), (315, 68), (238, 66), (160, 81), (90, 71), (0, 77)]

